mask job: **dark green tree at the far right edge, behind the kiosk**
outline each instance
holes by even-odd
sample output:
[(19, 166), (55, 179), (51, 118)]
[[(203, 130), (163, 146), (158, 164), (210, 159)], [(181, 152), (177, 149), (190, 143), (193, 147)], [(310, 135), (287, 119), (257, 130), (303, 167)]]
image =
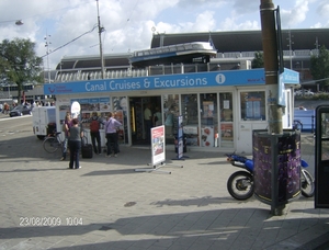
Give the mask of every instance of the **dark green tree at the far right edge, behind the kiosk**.
[(318, 55), (310, 57), (310, 73), (319, 82), (321, 90), (326, 90), (329, 86), (329, 52), (325, 45), (320, 47)]

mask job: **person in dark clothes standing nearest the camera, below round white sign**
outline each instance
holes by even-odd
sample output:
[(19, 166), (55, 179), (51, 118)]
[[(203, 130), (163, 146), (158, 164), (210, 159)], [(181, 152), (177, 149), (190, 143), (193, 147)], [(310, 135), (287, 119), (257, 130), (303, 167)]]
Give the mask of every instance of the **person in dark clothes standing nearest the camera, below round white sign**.
[(70, 149), (70, 163), (69, 169), (81, 169), (79, 162), (79, 154), (81, 150), (81, 138), (83, 137), (83, 132), (79, 127), (79, 120), (72, 120), (72, 126), (68, 132), (68, 145)]

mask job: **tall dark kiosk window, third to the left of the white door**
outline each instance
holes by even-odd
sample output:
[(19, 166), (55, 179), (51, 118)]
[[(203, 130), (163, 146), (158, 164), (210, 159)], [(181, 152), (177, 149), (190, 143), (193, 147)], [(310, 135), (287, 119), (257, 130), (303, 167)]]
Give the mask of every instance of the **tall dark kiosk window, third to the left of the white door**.
[(186, 145), (198, 146), (198, 109), (196, 94), (182, 94), (181, 107)]

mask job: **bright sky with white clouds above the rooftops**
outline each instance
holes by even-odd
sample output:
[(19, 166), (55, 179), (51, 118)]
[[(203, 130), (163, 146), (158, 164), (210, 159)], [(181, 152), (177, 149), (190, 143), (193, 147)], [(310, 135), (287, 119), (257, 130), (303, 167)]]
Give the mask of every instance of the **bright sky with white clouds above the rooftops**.
[[(260, 0), (1, 0), (0, 42), (29, 38), (45, 69), (66, 56), (150, 48), (154, 33), (261, 30)], [(281, 25), (329, 29), (328, 0), (272, 0)], [(99, 7), (99, 8), (98, 8)], [(99, 19), (98, 19), (99, 18)], [(15, 25), (22, 20), (23, 25)], [(46, 44), (48, 46), (46, 46)]]

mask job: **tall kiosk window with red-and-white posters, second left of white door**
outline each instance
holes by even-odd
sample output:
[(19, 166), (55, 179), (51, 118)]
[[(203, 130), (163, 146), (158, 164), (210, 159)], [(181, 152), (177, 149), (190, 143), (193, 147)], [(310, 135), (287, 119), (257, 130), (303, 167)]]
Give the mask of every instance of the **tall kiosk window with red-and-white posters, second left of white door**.
[(217, 94), (200, 94), (200, 116), (201, 116), (201, 146), (217, 147), (218, 138), (218, 112)]

